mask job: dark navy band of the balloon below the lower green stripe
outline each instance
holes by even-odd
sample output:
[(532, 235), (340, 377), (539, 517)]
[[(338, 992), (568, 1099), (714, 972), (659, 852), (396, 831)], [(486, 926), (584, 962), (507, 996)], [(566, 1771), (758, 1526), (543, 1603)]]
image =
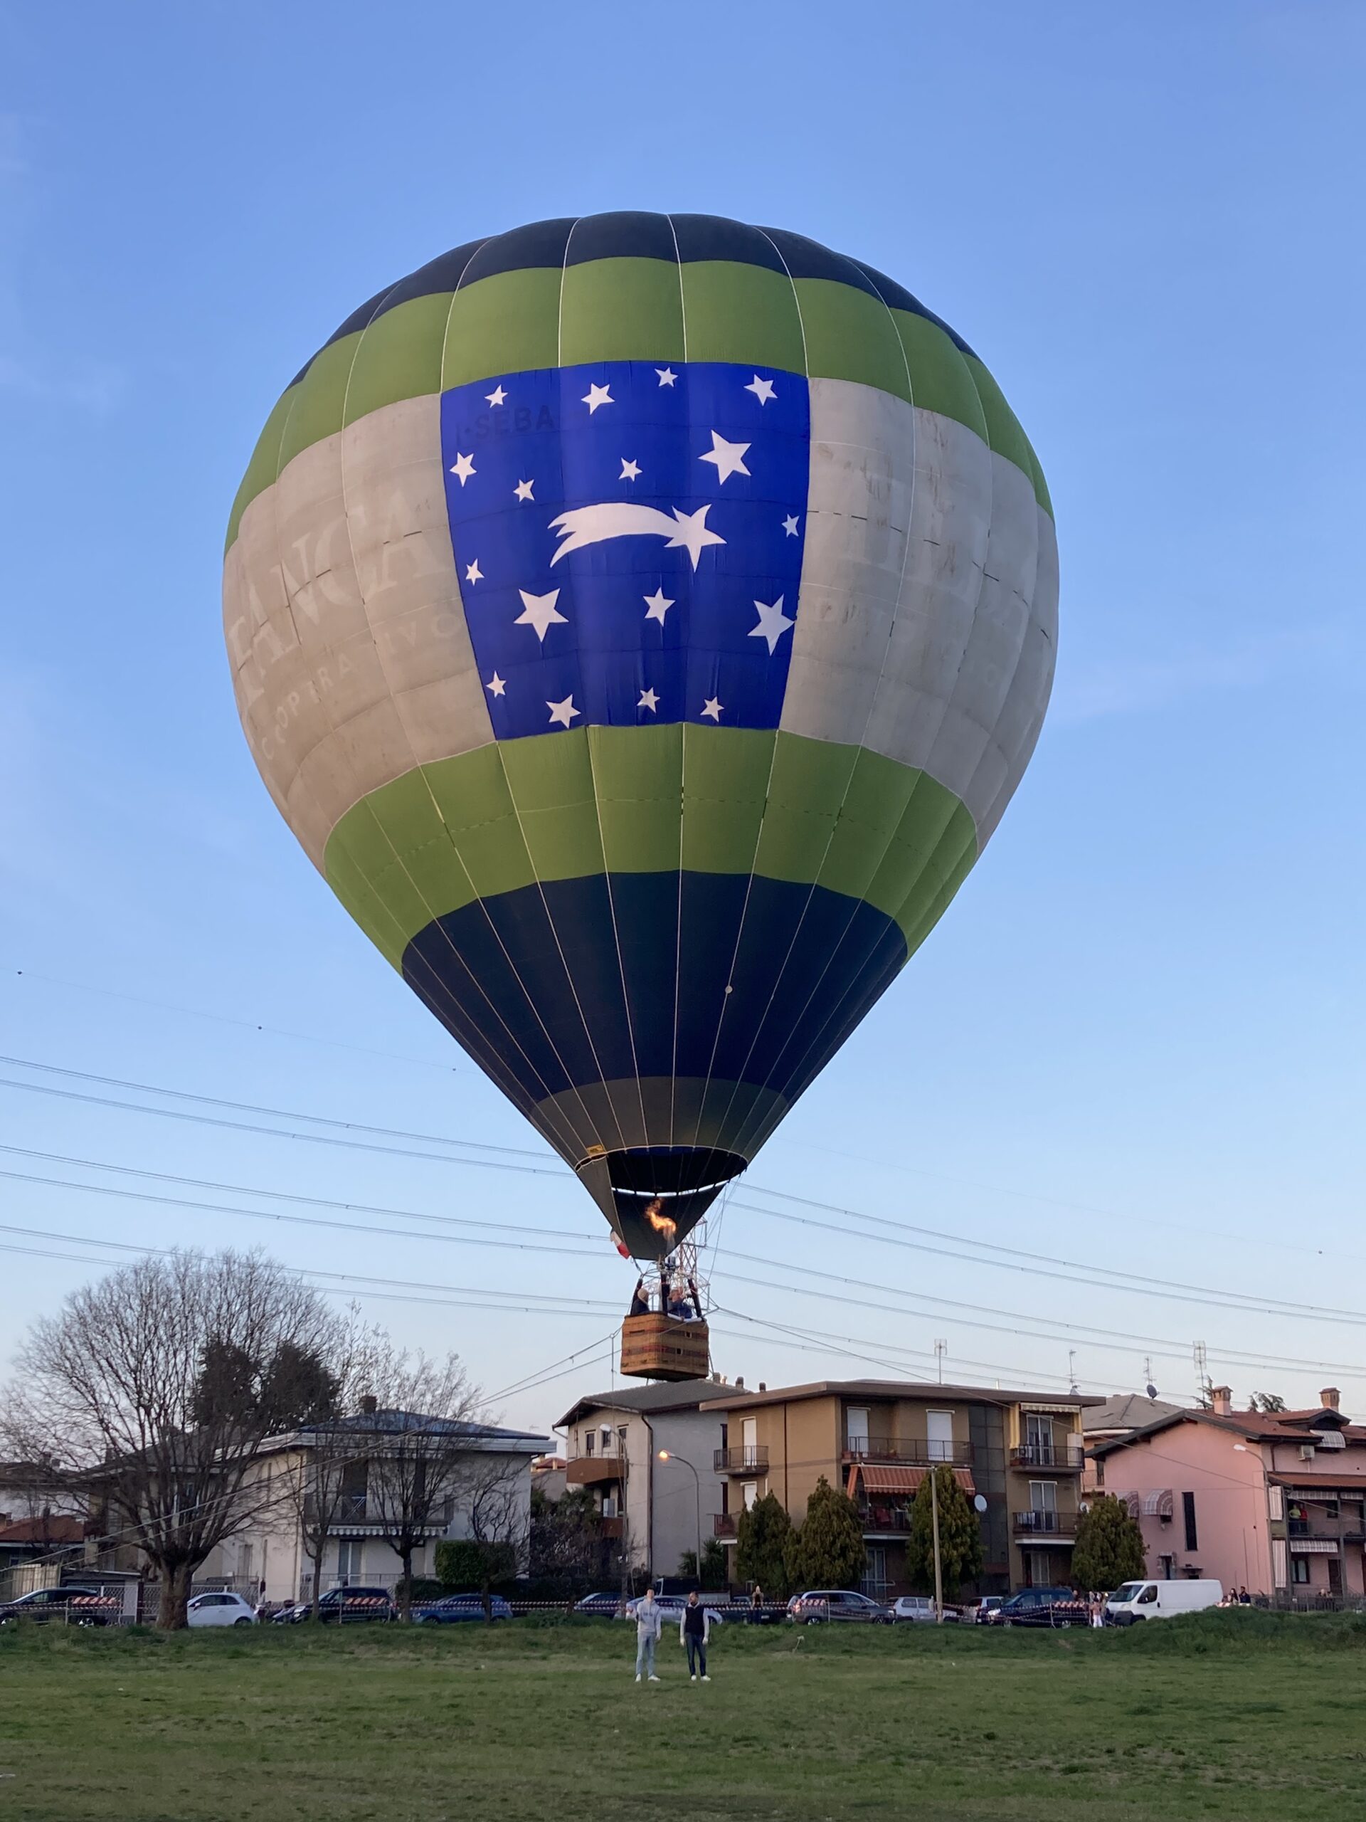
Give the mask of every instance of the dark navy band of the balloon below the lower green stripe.
[(610, 896), (594, 875), (452, 911), (413, 937), (403, 975), (525, 1108), (636, 1075), (790, 1100), (905, 958), (889, 916), (821, 885), (617, 873)]

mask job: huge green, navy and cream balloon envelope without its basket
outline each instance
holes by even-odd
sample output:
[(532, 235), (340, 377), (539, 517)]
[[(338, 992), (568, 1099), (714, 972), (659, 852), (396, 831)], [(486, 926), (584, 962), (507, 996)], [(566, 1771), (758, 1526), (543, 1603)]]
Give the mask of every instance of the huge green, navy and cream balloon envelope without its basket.
[(270, 414), (224, 565), (280, 814), (641, 1261), (967, 876), (1056, 599), (967, 343), (712, 215), (535, 222), (386, 286)]

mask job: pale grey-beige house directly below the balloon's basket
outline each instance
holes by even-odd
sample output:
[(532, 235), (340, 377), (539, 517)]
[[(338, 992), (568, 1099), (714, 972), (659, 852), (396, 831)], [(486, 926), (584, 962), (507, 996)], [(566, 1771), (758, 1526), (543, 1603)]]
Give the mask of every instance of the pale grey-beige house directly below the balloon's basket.
[(566, 1483), (592, 1487), (603, 1532), (619, 1540), (632, 1571), (678, 1574), (683, 1552), (714, 1536), (727, 1419), (703, 1407), (723, 1394), (741, 1405), (750, 1396), (743, 1381), (727, 1388), (721, 1379), (627, 1387), (581, 1397), (556, 1425), (565, 1432)]

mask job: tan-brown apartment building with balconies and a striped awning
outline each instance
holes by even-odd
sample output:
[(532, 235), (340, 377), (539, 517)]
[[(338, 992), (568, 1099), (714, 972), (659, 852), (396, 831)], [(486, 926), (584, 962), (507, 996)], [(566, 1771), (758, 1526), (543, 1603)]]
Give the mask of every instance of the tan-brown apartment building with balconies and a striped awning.
[(794, 1523), (823, 1476), (863, 1516), (869, 1594), (907, 1587), (911, 1503), (934, 1463), (985, 1500), (985, 1565), (969, 1592), (1067, 1581), (1080, 1510), (1076, 1394), (1002, 1392), (898, 1379), (827, 1379), (750, 1396), (721, 1394), (701, 1416), (725, 1421), (712, 1529), (734, 1545), (739, 1512), (776, 1494)]

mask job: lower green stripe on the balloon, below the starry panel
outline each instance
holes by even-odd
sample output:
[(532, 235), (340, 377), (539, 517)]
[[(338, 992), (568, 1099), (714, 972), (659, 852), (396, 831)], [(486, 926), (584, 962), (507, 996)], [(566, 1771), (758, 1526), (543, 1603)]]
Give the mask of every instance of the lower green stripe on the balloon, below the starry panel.
[(758, 873), (891, 916), (914, 947), (976, 858), (929, 774), (763, 729), (594, 727), (479, 747), (372, 791), (333, 829), (328, 884), (397, 967), (475, 898), (597, 873)]

